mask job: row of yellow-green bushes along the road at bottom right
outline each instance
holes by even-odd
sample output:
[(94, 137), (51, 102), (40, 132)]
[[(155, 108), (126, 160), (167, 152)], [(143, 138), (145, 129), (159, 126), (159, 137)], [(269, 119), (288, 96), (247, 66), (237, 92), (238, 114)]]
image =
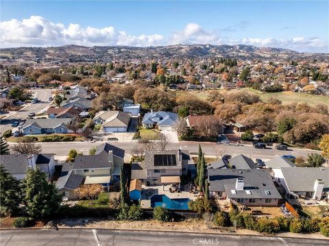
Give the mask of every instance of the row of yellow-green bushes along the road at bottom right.
[(324, 219), (290, 219), (282, 216), (273, 219), (268, 219), (266, 217), (257, 219), (247, 213), (239, 213), (236, 211), (227, 213), (222, 211), (215, 214), (214, 222), (218, 226), (230, 226), (233, 225), (233, 222), (235, 222), (236, 227), (246, 228), (257, 232), (321, 232), (324, 236), (329, 236), (329, 217)]

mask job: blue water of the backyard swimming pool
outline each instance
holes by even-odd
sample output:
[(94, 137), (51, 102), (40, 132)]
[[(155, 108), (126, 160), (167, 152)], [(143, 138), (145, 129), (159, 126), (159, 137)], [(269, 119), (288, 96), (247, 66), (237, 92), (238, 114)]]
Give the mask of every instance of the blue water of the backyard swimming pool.
[(167, 195), (154, 195), (151, 197), (151, 207), (161, 206), (168, 209), (188, 210), (188, 198), (170, 199)]

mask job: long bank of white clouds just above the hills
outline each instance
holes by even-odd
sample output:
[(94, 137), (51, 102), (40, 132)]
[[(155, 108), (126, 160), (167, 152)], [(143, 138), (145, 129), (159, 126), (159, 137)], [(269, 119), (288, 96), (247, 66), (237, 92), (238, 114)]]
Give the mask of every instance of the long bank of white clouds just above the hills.
[[(243, 25), (246, 25), (245, 23)], [(1, 47), (51, 46), (51, 45), (130, 45), (157, 46), (174, 44), (254, 45), (281, 47), (296, 51), (328, 52), (328, 40), (296, 36), (290, 39), (222, 37), (219, 31), (206, 30), (197, 23), (188, 23), (182, 30), (165, 38), (160, 34), (133, 36), (114, 27), (82, 27), (71, 23), (52, 23), (41, 16), (29, 19), (0, 22)]]

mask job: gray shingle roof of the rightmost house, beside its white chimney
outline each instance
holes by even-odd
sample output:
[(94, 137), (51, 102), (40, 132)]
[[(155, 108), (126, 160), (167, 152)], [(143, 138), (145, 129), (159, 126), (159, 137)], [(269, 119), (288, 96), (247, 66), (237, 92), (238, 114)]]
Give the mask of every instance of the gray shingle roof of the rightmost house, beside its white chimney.
[(324, 191), (329, 191), (329, 169), (318, 167), (282, 167), (282, 175), (291, 192), (314, 191), (315, 180), (324, 181)]

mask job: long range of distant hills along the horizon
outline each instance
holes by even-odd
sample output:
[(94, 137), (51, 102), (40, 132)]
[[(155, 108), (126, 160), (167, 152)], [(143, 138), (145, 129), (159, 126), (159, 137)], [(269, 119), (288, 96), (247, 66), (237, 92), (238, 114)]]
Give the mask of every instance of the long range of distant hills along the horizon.
[(60, 47), (18, 47), (0, 49), (7, 62), (110, 62), (112, 60), (166, 60), (230, 57), (239, 60), (329, 60), (327, 53), (299, 53), (289, 49), (252, 45), (170, 45), (125, 47), (64, 45)]

